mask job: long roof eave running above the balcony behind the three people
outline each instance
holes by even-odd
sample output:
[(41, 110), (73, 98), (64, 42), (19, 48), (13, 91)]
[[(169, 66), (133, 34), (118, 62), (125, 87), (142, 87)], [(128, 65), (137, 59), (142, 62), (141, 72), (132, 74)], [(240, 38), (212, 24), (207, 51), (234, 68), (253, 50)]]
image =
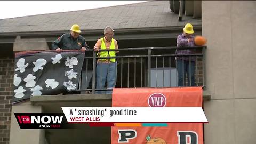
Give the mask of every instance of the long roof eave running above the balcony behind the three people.
[[(202, 25), (194, 25), (194, 30), (202, 31)], [(124, 28), (114, 29), (118, 39), (145, 39), (145, 38), (170, 38), (176, 37), (182, 33), (183, 26), (170, 27), (147, 27), (147, 28)], [(103, 29), (82, 30), (81, 35), (86, 37), (86, 41), (93, 41), (103, 35)], [(69, 30), (63, 31), (31, 31), (31, 32), (11, 32), (0, 33), (0, 43), (13, 43), (16, 36), (21, 38), (46, 38), (47, 42), (53, 41), (57, 36), (69, 33)]]

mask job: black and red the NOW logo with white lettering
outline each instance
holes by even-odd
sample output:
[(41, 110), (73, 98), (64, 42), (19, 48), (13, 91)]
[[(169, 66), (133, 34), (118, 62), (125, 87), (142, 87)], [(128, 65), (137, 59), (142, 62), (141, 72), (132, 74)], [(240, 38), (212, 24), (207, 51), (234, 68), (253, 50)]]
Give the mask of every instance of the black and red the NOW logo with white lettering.
[(61, 129), (67, 120), (63, 114), (15, 113), (21, 129)]

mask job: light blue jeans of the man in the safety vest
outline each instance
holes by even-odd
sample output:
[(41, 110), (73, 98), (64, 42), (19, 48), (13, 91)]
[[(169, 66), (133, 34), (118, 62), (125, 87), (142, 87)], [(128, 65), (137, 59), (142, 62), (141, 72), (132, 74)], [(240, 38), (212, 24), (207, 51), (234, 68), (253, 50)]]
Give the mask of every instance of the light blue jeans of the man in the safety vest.
[[(104, 89), (107, 80), (107, 88), (116, 86), (116, 66), (114, 63), (97, 63), (96, 68), (96, 89)], [(112, 91), (95, 91), (97, 94), (111, 94)]]

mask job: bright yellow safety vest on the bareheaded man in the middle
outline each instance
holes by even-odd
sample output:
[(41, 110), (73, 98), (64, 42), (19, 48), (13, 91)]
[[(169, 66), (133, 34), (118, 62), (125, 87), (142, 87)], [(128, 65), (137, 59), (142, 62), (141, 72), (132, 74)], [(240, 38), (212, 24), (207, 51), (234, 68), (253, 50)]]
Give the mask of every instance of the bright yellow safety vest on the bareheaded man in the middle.
[[(105, 42), (104, 42), (104, 38), (100, 38), (101, 39), (101, 49), (102, 50), (106, 50), (106, 45), (105, 45)], [(111, 41), (111, 45), (109, 47), (109, 49), (116, 49), (116, 46), (115, 46), (115, 42), (114, 42), (114, 39), (112, 38), (112, 41)], [(115, 51), (102, 51), (100, 52), (100, 54), (98, 53), (98, 55), (100, 57), (115, 57), (116, 56), (116, 52)], [(100, 59), (101, 61), (105, 61), (107, 59)], [(111, 62), (116, 62), (116, 59), (115, 58), (111, 58), (110, 59)]]

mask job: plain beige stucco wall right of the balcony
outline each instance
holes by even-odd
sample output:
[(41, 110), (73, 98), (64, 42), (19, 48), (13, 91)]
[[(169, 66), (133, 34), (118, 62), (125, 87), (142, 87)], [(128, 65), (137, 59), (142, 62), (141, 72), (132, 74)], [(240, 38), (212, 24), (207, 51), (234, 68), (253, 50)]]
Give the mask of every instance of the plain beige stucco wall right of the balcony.
[(256, 2), (202, 1), (205, 143), (256, 143)]

